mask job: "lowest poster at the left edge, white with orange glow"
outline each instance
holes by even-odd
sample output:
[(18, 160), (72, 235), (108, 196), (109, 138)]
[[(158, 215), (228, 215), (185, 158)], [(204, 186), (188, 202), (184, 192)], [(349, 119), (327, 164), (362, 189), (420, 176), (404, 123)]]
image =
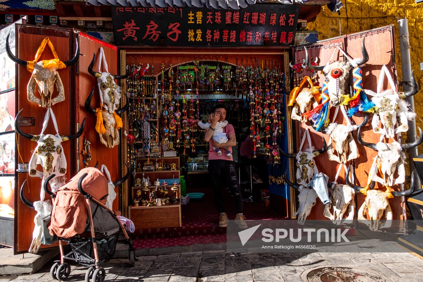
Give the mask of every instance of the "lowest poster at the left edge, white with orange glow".
[(0, 176), (0, 217), (14, 218), (14, 176)]

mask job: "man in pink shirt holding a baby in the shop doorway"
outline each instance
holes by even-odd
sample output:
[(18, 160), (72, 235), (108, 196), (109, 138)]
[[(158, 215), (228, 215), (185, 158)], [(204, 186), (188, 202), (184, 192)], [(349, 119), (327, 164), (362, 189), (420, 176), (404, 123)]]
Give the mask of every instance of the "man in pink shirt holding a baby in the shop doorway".
[(222, 199), (222, 185), (226, 180), (236, 209), (235, 222), (239, 228), (244, 229), (247, 228), (247, 224), (245, 216), (242, 214), (242, 196), (231, 148), (236, 145), (235, 130), (232, 124), (225, 121), (226, 113), (225, 105), (216, 105), (209, 115), (208, 122), (201, 122), (199, 126), (206, 130), (204, 140), (209, 142), (208, 170), (213, 184), (214, 201), (217, 211), (220, 213), (219, 227), (226, 227), (228, 221)]

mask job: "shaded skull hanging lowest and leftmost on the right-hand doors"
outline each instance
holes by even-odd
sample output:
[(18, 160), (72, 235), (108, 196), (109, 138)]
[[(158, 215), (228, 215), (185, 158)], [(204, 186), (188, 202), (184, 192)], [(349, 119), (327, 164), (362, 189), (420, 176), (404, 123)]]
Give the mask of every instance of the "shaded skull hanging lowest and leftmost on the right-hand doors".
[(302, 188), (304, 186), (292, 183), (288, 178), (285, 181), (286, 184), (299, 191), (298, 209), (294, 213), (294, 216), (298, 217), (298, 224), (303, 225), (307, 216), (310, 215), (311, 208), (316, 205), (317, 193), (312, 188)]

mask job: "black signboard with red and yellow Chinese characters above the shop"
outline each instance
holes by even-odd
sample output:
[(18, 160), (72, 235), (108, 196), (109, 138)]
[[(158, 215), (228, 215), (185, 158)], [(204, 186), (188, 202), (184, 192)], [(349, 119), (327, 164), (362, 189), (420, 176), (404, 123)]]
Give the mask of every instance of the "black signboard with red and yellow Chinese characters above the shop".
[(289, 45), (299, 5), (261, 4), (239, 10), (112, 6), (118, 45)]

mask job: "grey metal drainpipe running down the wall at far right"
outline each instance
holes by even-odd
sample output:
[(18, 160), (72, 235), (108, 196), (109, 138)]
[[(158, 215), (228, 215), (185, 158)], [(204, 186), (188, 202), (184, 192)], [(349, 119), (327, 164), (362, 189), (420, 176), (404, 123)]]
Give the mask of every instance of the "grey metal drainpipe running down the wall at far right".
[[(409, 45), (409, 35), (408, 35), (408, 21), (407, 19), (399, 19), (398, 20), (399, 26), (399, 43), (400, 43), (400, 51), (401, 51), (401, 69), (402, 69), (402, 80), (405, 82), (411, 82), (411, 59), (410, 59), (410, 45)], [(407, 83), (403, 84), (404, 91), (410, 91), (412, 86), (411, 83), (407, 85)], [(410, 109), (414, 112), (414, 96), (407, 97), (407, 102), (410, 104)], [(416, 134), (416, 122), (415, 120), (408, 121), (408, 131), (407, 131), (407, 143), (413, 142), (417, 139)], [(408, 163), (410, 166), (410, 175), (412, 171), (415, 171), (413, 158), (418, 155), (417, 147), (408, 149)], [(418, 177), (417, 171), (414, 173), (415, 175), (415, 187), (418, 189), (421, 188), (420, 178)]]

